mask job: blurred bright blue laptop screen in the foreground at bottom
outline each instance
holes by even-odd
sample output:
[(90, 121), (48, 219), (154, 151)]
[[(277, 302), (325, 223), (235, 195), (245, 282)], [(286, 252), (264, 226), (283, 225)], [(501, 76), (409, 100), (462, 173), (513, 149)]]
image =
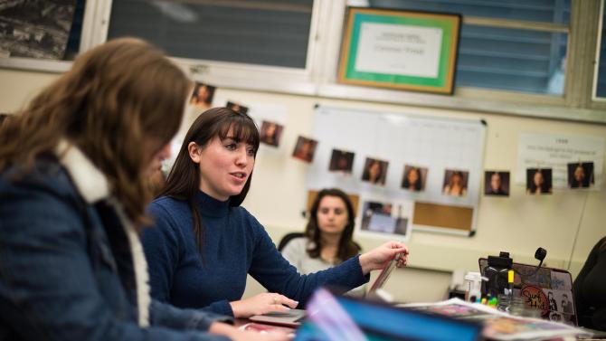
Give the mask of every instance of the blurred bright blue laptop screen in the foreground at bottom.
[(336, 297), (318, 289), (308, 303), (308, 319), (296, 341), (477, 340), (481, 327), (419, 311)]

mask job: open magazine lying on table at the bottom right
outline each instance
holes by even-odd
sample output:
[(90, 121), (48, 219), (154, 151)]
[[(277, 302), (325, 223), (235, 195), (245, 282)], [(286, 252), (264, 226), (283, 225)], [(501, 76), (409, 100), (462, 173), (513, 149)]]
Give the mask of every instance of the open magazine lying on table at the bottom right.
[(481, 322), (482, 336), (495, 340), (535, 340), (559, 336), (591, 336), (582, 329), (563, 323), (530, 317), (514, 317), (496, 308), (450, 298), (437, 303), (412, 303), (398, 307), (412, 308), (447, 317)]

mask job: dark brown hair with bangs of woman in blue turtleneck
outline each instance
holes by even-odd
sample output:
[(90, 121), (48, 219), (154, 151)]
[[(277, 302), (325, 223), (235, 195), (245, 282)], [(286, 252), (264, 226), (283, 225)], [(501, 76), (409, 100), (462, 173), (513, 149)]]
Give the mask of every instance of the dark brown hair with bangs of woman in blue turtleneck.
[[(213, 108), (204, 111), (195, 119), (185, 135), (183, 145), (176, 156), (166, 186), (158, 196), (170, 196), (176, 200), (185, 200), (194, 217), (194, 234), (198, 248), (202, 251), (204, 226), (200, 211), (196, 205), (195, 194), (200, 191), (200, 167), (189, 156), (188, 146), (191, 142), (206, 147), (214, 137), (222, 140), (232, 129), (233, 137), (254, 147), (254, 156), (259, 149), (259, 129), (252, 118), (246, 114), (227, 108)], [(204, 162), (202, 160), (201, 162)], [(229, 204), (240, 206), (251, 188), (252, 172), (240, 194), (232, 195)]]

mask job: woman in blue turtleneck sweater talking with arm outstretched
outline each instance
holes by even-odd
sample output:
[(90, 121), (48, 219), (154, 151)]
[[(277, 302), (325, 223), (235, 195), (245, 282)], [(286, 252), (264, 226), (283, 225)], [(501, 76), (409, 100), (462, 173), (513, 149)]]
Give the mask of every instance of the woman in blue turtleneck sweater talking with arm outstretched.
[[(408, 254), (402, 243), (387, 242), (330, 270), (298, 274), (240, 206), (259, 141), (254, 121), (231, 109), (209, 109), (194, 121), (164, 191), (149, 208), (156, 228), (147, 229), (143, 244), (154, 298), (250, 317), (304, 305), (320, 286), (359, 287), (396, 253)], [(247, 274), (270, 293), (241, 300)]]

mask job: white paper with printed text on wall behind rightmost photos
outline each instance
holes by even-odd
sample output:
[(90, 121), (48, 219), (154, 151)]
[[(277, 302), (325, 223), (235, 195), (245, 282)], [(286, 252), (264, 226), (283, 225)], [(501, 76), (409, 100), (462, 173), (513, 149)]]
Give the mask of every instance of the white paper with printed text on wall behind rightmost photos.
[(521, 133), (517, 147), (516, 183), (526, 185), (527, 168), (552, 168), (553, 187), (566, 188), (567, 165), (575, 162), (593, 162), (595, 185), (592, 187), (599, 188), (604, 163), (604, 138)]

